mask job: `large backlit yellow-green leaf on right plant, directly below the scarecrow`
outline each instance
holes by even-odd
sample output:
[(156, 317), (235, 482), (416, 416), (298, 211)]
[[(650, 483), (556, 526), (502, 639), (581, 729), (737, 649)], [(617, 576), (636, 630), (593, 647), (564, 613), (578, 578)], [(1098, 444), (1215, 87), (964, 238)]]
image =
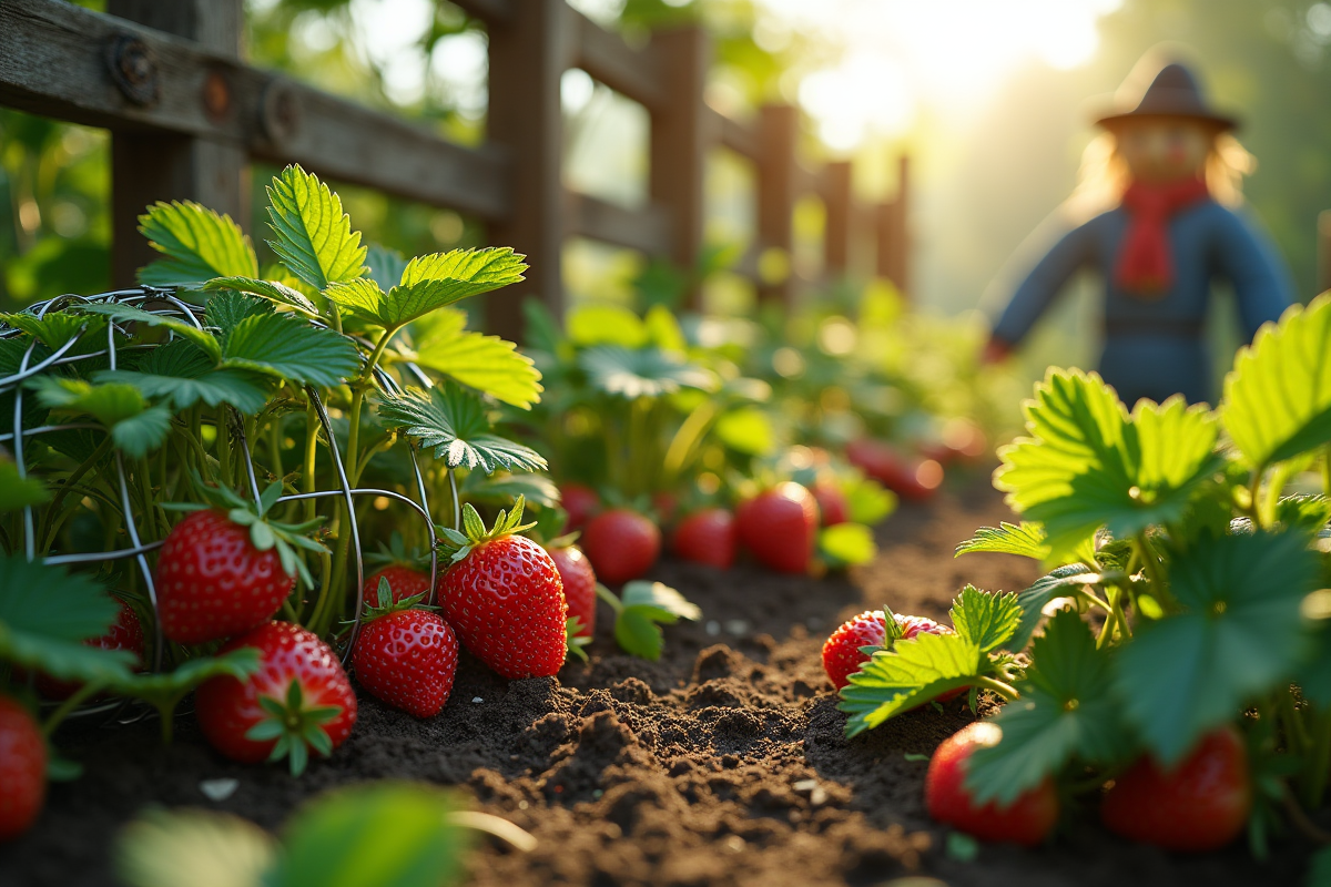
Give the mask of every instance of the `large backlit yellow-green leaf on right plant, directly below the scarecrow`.
[(1138, 402), (1131, 416), (1098, 375), (1050, 370), (1025, 406), (1029, 438), (1000, 449), (994, 487), (1067, 557), (1101, 527), (1118, 539), (1182, 517), (1215, 468), (1205, 404)]

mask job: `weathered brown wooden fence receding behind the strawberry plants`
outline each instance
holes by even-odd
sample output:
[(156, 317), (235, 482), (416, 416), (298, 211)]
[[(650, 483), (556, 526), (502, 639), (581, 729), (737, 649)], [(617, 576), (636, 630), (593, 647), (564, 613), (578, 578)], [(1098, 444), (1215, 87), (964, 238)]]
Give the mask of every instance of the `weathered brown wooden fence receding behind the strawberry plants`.
[[(865, 241), (876, 273), (908, 290), (906, 160), (896, 198), (865, 206), (853, 197), (849, 164), (813, 172), (799, 161), (793, 108), (764, 106), (751, 125), (716, 113), (703, 100), (712, 51), (700, 28), (654, 33), (636, 49), (564, 0), (455, 3), (488, 36), (479, 148), (245, 65), (242, 0), (108, 0), (108, 15), (61, 0), (0, 0), (0, 105), (112, 130), (112, 274), (121, 285), (150, 258), (136, 231), (145, 205), (189, 198), (246, 219), (249, 161), (299, 162), (333, 181), (474, 215), (491, 242), (526, 253), (527, 282), (487, 302), (486, 326), (518, 338), (524, 297), (562, 311), (568, 237), (695, 267), (707, 158), (720, 146), (756, 170), (757, 242), (736, 270), (761, 298), (796, 294), (799, 281), (764, 278), (757, 259), (789, 255), (795, 205), (805, 195), (825, 207), (825, 278), (845, 275), (852, 242)], [(564, 188), (560, 80), (571, 68), (647, 109), (647, 206)]]

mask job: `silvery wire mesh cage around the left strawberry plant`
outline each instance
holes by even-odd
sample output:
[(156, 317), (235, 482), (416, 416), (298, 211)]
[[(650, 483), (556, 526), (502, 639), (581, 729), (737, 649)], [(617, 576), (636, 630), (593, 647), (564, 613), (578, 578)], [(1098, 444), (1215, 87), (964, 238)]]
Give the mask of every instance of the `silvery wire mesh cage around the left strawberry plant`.
[[(35, 395), (29, 388), (32, 387), (33, 379), (52, 374), (64, 376), (77, 376), (80, 374), (91, 375), (91, 371), (95, 371), (96, 368), (114, 371), (126, 362), (128, 355), (142, 350), (161, 347), (181, 338), (180, 331), (169, 328), (165, 338), (157, 343), (134, 343), (133, 339), (137, 332), (134, 323), (117, 320), (114, 319), (114, 315), (112, 315), (108, 317), (108, 322), (105, 323), (104, 342), (93, 339), (93, 336), (100, 336), (102, 330), (97, 323), (92, 322), (84, 322), (79, 326), (75, 326), (73, 322), (71, 322), (65, 326), (65, 334), (61, 335), (63, 340), (52, 340), (49, 336), (47, 342), (43, 340), (41, 324), (52, 315), (72, 313), (73, 317), (77, 318), (83, 311), (92, 310), (96, 306), (128, 306), (140, 309), (154, 318), (182, 320), (201, 332), (205, 331), (206, 319), (204, 306), (184, 301), (170, 289), (157, 287), (116, 290), (93, 297), (61, 295), (59, 298), (31, 306), (21, 315), (9, 315), (9, 322), (0, 327), (0, 344), (5, 342), (13, 343), (8, 347), (8, 351), (4, 355), (5, 363), (3, 368), (5, 375), (0, 378), (0, 408), (8, 404), (12, 406), (12, 412), (8, 416), (11, 420), (8, 423), (11, 431), (0, 434), (0, 445), (5, 445), (11, 449), (13, 465), (20, 480), (29, 477), (29, 475), (35, 471), (40, 471), (40, 468), (33, 465), (32, 453), (37, 445), (48, 439), (52, 439), (55, 435), (60, 435), (63, 432), (102, 432), (106, 435), (104, 440), (110, 440), (109, 430), (104, 423), (84, 420), (81, 418), (75, 418), (69, 422), (44, 420), (45, 416), (43, 412), (32, 408)], [(92, 320), (96, 315), (87, 317)], [(102, 317), (106, 317), (105, 313), (102, 313)], [(323, 326), (318, 320), (313, 319), (307, 320), (307, 323), (313, 326)], [(142, 327), (144, 323), (140, 322), (137, 326)], [(24, 332), (31, 334), (31, 340), (21, 338)], [(365, 362), (369, 359), (369, 352), (373, 350), (373, 346), (363, 339), (358, 339), (357, 336), (346, 338), (355, 342), (363, 367)], [(403, 378), (410, 378), (414, 383), (419, 383), (425, 388), (430, 388), (433, 386), (431, 379), (414, 363), (397, 362), (394, 367), (402, 374)], [(397, 396), (403, 392), (403, 387), (398, 378), (379, 366), (374, 367), (373, 382), (382, 394), (389, 396)], [(363, 496), (373, 496), (379, 501), (389, 500), (399, 503), (423, 523), (426, 539), (430, 540), (429, 560), (431, 596), (434, 594), (439, 570), (438, 555), (434, 547), (435, 525), (431, 517), (426, 479), (418, 460), (417, 442), (395, 442), (395, 445), (402, 445), (409, 452), (410, 471), (414, 480), (411, 485), (414, 487), (415, 497), (395, 489), (353, 487), (350, 481), (353, 475), (347, 471), (342, 449), (338, 444), (334, 419), (330, 416), (329, 407), (325, 404), (319, 391), (311, 384), (303, 386), (303, 395), (307, 399), (309, 410), (314, 416), (317, 416), (319, 432), (322, 432), (319, 443), (325, 449), (326, 459), (331, 464), (331, 475), (335, 477), (337, 483), (335, 485), (325, 489), (315, 488), (295, 492), (284, 491), (284, 493), (277, 499), (277, 503), (281, 504), (327, 499), (339, 501), (343, 508), (342, 513), (346, 517), (346, 525), (339, 532), (349, 535), (349, 553), (354, 561), (355, 569), (353, 574), (347, 576), (347, 578), (354, 576), (355, 582), (354, 589), (339, 590), (334, 588), (330, 590), (333, 594), (345, 594), (345, 597), (341, 598), (343, 606), (346, 602), (354, 600), (354, 604), (349, 610), (349, 630), (343, 634), (342, 660), (345, 662), (353, 649), (366, 605), (363, 594), (366, 565), (362, 556), (362, 532), (357, 516), (355, 500)], [(173, 416), (173, 422), (180, 422), (180, 418)], [(224, 407), (210, 422), (208, 419), (201, 419), (200, 422), (205, 427), (212, 424), (214, 435), (228, 434), (237, 442), (240, 461), (244, 465), (244, 492), (258, 503), (260, 477), (256, 473), (256, 460), (250, 449), (250, 442), (246, 438), (242, 415), (234, 407)], [(217, 428), (218, 422), (228, 422), (229, 427)], [(136, 476), (136, 468), (133, 465), (126, 467), (125, 455), (118, 447), (109, 447), (106, 452), (112, 460), (109, 465), (112, 473), (109, 476), (112, 480), (112, 492), (114, 495), (101, 496), (98, 504), (101, 507), (118, 511), (120, 520), (122, 521), (125, 544), (102, 547), (100, 549), (89, 548), (88, 551), (72, 551), (73, 545), (68, 543), (71, 535), (65, 533), (63, 536), (57, 536), (55, 529), (49, 525), (49, 515), (43, 513), (45, 509), (60, 505), (67, 496), (73, 493), (79, 493), (83, 501), (87, 501), (87, 496), (91, 495), (79, 485), (80, 475), (79, 469), (75, 469), (64, 477), (49, 480), (49, 488), (55, 496), (52, 505), (39, 507), (27, 504), (23, 507), (21, 517), (19, 520), (21, 539), (7, 540), (8, 548), (11, 552), (21, 552), (28, 561), (40, 560), (48, 565), (91, 565), (113, 561), (132, 561), (132, 569), (137, 573), (137, 582), (141, 582), (142, 602), (152, 610), (152, 662), (148, 665), (150, 665), (152, 670), (156, 672), (162, 669), (166, 642), (162, 637), (161, 620), (157, 618), (158, 593), (150, 557), (153, 552), (164, 545), (165, 540), (152, 537), (160, 536), (160, 533), (145, 532), (145, 516), (142, 513), (142, 508), (144, 503), (149, 501), (149, 497), (142, 496), (136, 500), (136, 489), (138, 485), (144, 483), (150, 484), (150, 479), (145, 481), (144, 477)], [(182, 468), (177, 467), (177, 471), (182, 471)], [(269, 476), (266, 480), (272, 481), (280, 479)], [(449, 483), (451, 485), (454, 504), (453, 521), (454, 525), (457, 525), (458, 496), (457, 483), (451, 472), (449, 473)], [(52, 545), (52, 543), (56, 544)], [(431, 600), (429, 602), (434, 601)], [(118, 703), (85, 706), (83, 711), (96, 713), (113, 707), (118, 707)]]

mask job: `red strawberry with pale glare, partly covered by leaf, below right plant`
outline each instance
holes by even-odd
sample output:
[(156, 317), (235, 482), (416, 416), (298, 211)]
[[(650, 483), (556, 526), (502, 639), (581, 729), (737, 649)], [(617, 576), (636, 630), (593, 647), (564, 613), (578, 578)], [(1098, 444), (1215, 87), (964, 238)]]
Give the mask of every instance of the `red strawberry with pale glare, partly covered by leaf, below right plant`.
[(929, 761), (924, 797), (929, 815), (981, 840), (1010, 840), (1025, 847), (1041, 843), (1058, 822), (1058, 794), (1045, 779), (1010, 806), (996, 802), (976, 806), (966, 790), (966, 762), (976, 749), (997, 745), (1002, 729), (976, 721), (942, 741)]

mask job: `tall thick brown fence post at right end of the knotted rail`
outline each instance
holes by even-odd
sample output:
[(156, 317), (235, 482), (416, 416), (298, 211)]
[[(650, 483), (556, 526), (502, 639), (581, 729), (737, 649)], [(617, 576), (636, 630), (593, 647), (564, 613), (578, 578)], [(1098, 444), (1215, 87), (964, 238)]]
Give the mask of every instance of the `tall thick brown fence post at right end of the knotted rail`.
[(510, 210), (490, 242), (527, 257), (527, 279), (486, 298), (486, 331), (522, 342), (522, 302), (535, 295), (563, 317), (563, 108), (560, 78), (572, 57), (564, 0), (514, 0), (490, 27), (488, 136), (511, 162)]

